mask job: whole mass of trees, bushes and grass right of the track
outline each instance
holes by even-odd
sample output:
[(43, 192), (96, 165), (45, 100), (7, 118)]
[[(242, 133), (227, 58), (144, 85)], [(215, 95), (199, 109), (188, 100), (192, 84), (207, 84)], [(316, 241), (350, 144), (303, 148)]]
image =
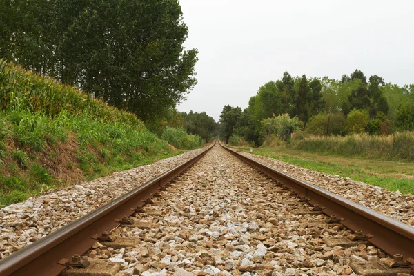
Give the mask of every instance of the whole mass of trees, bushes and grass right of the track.
[(402, 193), (414, 193), (413, 131), (414, 84), (360, 70), (339, 80), (285, 72), (219, 121), (230, 146)]

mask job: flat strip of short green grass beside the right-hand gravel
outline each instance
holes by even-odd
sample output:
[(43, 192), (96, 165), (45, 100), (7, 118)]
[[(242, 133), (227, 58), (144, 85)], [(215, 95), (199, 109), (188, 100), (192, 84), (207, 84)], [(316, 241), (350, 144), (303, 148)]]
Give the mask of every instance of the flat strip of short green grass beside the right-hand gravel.
[[(250, 152), (250, 148), (241, 149)], [(401, 193), (414, 194), (413, 162), (322, 155), (321, 153), (287, 149), (284, 146), (255, 148), (253, 153), (309, 170), (350, 177), (355, 181), (362, 181), (388, 190), (400, 190)]]

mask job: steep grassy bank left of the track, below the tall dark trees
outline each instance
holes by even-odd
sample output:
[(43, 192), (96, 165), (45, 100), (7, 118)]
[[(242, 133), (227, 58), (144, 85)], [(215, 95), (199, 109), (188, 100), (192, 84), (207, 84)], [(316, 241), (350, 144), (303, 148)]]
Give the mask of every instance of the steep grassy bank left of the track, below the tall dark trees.
[(0, 60), (0, 206), (181, 152), (135, 115)]

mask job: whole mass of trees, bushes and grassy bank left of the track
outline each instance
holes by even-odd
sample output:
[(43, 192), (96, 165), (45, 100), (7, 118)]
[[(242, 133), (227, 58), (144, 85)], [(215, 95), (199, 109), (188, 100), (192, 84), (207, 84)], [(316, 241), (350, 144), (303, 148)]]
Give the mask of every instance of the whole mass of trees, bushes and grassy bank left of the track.
[(178, 1), (6, 1), (0, 21), (0, 206), (213, 137), (175, 109), (198, 52)]

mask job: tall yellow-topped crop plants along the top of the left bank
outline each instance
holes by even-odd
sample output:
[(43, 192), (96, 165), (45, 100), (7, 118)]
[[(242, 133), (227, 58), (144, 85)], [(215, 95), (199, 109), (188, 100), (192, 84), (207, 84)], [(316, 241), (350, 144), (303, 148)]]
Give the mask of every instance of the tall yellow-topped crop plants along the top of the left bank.
[(49, 77), (41, 77), (1, 60), (0, 108), (8, 112), (39, 111), (47, 117), (55, 117), (62, 110), (75, 115), (87, 112), (108, 123), (120, 121), (138, 129), (144, 128), (144, 124), (132, 113), (108, 106), (72, 86), (63, 86)]

